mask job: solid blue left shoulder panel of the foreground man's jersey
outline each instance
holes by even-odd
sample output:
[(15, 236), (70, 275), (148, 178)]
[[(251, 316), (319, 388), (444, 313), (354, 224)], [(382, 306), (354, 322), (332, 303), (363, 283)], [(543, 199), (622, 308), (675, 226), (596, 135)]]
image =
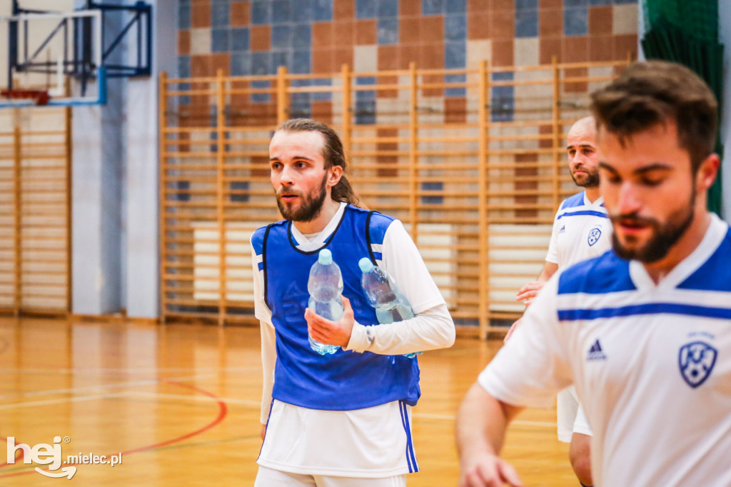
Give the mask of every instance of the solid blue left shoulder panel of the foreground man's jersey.
[(572, 265), (558, 278), (558, 294), (606, 294), (635, 289), (635, 283), (629, 276), (629, 261), (620, 259), (611, 250)]

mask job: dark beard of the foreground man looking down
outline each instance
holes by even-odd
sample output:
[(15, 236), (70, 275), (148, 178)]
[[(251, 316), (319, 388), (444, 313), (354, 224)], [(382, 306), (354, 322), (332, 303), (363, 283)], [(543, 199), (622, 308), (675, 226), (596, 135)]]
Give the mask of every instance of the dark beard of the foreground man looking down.
[[(614, 252), (625, 260), (639, 260), (641, 263), (649, 264), (664, 258), (675, 243), (686, 233), (694, 219), (695, 188), (692, 189), (689, 205), (683, 206), (678, 211), (668, 216), (667, 221), (660, 223), (653, 218), (643, 218), (637, 214), (620, 214), (610, 216), (613, 224), (618, 221), (631, 221), (637, 224), (647, 224), (652, 228), (652, 234), (643, 246), (629, 248), (624, 246), (617, 237), (617, 232), (612, 232), (612, 248)], [(629, 242), (636, 241), (630, 237)]]

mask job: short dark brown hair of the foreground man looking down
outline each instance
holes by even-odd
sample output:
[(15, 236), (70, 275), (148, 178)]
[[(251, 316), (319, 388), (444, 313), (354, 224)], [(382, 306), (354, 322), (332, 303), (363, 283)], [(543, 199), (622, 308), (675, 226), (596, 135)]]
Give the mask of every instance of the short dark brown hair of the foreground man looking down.
[(711, 88), (690, 69), (666, 61), (630, 64), (604, 88), (591, 94), (598, 127), (619, 137), (674, 121), (678, 145), (688, 151), (695, 174), (713, 154), (718, 130), (718, 102)]

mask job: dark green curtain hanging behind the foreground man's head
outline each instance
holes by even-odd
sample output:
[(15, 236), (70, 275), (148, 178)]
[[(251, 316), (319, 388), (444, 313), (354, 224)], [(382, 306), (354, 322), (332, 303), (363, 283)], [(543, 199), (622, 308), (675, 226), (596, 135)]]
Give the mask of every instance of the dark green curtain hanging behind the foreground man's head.
[[(645, 36), (642, 47), (648, 59), (683, 64), (713, 90), (722, 109), (724, 46), (719, 42), (718, 0), (643, 0)], [(720, 138), (716, 153), (723, 160)], [(708, 209), (721, 213), (721, 174), (708, 192)]]

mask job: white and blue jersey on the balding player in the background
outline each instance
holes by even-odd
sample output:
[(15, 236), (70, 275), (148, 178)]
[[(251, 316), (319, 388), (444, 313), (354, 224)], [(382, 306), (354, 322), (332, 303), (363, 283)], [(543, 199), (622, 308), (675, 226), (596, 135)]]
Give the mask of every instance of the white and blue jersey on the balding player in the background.
[(546, 260), (558, 268), (591, 259), (612, 246), (612, 224), (604, 198), (591, 203), (582, 191), (561, 203), (553, 219)]

